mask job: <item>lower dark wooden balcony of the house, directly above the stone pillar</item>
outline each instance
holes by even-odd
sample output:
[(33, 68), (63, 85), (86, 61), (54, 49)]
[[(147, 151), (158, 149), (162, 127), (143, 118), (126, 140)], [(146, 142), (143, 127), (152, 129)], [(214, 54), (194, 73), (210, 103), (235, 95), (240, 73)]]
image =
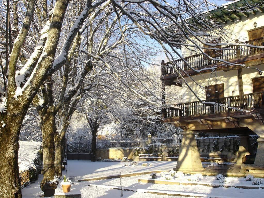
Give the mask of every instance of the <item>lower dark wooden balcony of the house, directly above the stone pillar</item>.
[[(243, 111), (244, 110), (244, 111)], [(252, 111), (264, 110), (264, 92), (250, 93), (243, 95), (243, 104), (240, 104), (239, 96), (229, 96), (211, 100), (186, 102), (164, 107), (162, 115), (165, 122), (194, 120), (194, 117), (229, 116), (229, 114), (241, 117), (251, 114)], [(263, 111), (264, 113), (264, 111)], [(220, 116), (220, 114), (222, 114)], [(251, 115), (252, 116), (252, 115)], [(166, 121), (166, 119), (169, 119)]]

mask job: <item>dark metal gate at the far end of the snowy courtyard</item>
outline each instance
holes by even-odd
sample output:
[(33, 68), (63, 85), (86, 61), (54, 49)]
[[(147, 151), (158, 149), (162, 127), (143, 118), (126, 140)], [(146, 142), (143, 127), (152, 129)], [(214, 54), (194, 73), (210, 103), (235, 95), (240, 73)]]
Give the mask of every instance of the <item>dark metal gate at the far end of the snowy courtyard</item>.
[(67, 144), (67, 159), (91, 159), (91, 144), (89, 142), (70, 142)]

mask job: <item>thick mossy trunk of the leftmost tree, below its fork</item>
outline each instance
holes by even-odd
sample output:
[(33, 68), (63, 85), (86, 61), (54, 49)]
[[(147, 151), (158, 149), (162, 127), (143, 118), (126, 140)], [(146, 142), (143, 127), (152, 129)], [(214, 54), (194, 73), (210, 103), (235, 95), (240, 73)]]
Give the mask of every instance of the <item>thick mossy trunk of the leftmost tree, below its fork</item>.
[[(18, 171), (18, 136), (24, 114), (15, 110), (0, 115), (0, 198), (21, 198)], [(6, 124), (6, 125), (4, 125)]]

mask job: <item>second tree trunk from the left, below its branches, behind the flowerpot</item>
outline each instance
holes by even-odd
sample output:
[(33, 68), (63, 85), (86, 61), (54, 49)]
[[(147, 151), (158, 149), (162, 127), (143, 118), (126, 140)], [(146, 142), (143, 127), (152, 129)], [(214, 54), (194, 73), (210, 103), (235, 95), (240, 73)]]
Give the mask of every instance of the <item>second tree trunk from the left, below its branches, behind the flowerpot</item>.
[(58, 182), (50, 182), (55, 177), (54, 134), (56, 131), (55, 112), (48, 107), (41, 112), (41, 131), (43, 138), (43, 180), (40, 187), (45, 197), (53, 196)]

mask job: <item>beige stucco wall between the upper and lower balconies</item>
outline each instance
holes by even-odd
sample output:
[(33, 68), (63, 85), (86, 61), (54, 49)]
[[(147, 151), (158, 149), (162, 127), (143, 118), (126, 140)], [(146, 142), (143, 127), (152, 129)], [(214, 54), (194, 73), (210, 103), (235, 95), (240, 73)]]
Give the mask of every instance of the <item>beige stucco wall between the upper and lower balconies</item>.
[[(252, 78), (261, 77), (258, 70), (256, 70), (255, 68), (264, 70), (264, 65), (242, 69), (244, 94), (253, 93)], [(262, 74), (262, 76), (264, 76), (264, 74)], [(201, 100), (205, 100), (205, 86), (220, 83), (224, 83), (225, 97), (239, 95), (237, 70), (228, 72), (218, 70), (213, 73), (192, 76), (192, 79), (185, 78), (185, 80)], [(182, 102), (197, 101), (196, 96), (191, 92), (190, 89), (187, 88), (185, 83), (183, 83), (183, 88), (185, 90), (182, 94)], [(234, 93), (232, 93), (232, 91), (234, 91)]]

